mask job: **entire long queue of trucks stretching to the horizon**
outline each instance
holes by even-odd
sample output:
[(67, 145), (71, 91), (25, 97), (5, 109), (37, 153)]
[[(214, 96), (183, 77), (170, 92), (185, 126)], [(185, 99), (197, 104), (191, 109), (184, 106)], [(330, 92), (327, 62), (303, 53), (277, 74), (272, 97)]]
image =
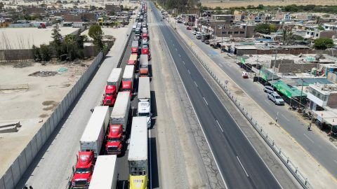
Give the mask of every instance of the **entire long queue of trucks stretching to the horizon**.
[[(138, 16), (142, 15), (145, 23), (146, 11), (146, 3), (142, 1)], [(147, 35), (146, 37), (148, 39)], [(144, 35), (141, 38), (143, 40)], [(129, 188), (147, 188), (147, 129), (151, 125), (150, 78), (148, 77), (150, 49), (148, 44), (147, 52), (140, 48), (139, 41), (140, 38), (136, 41), (137, 51), (131, 47), (130, 59), (124, 68), (124, 73), (121, 73), (121, 68), (115, 68), (107, 78), (101, 106), (93, 109), (79, 141), (79, 153), (76, 165), (73, 167), (70, 188), (117, 188), (117, 155), (126, 150), (126, 127), (131, 114), (133, 81), (137, 70), (140, 75), (138, 113), (132, 118), (128, 146)], [(110, 107), (113, 107), (111, 113)]]

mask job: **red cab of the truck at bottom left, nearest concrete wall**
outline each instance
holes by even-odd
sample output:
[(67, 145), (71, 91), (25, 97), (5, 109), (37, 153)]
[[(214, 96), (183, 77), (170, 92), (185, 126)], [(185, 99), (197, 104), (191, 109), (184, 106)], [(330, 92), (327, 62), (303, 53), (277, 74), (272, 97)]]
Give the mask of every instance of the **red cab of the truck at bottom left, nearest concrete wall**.
[(88, 188), (93, 176), (95, 157), (93, 151), (79, 152), (71, 188)]

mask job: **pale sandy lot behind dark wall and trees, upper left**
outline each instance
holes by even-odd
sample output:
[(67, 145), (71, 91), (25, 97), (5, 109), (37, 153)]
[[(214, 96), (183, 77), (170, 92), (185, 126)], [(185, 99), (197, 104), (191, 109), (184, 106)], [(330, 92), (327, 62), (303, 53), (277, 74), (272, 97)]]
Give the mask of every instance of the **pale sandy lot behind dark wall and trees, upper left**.
[[(32, 45), (41, 45), (53, 41), (51, 33), (53, 27), (38, 29), (37, 27), (26, 28), (1, 28), (0, 50), (5, 49), (29, 49)], [(60, 27), (60, 34), (65, 36), (77, 31), (78, 28)]]

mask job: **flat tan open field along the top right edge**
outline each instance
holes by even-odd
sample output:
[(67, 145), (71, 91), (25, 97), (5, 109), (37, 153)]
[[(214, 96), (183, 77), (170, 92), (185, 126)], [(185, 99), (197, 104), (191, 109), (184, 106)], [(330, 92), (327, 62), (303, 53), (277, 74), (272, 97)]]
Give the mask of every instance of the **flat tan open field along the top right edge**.
[(220, 6), (221, 8), (230, 8), (234, 6), (249, 6), (249, 5), (258, 6), (259, 4), (263, 4), (263, 6), (287, 6), (291, 4), (337, 5), (337, 0), (326, 0), (326, 1), (320, 1), (320, 0), (228, 1), (228, 0), (223, 0), (222, 2), (220, 0), (201, 0), (201, 3), (202, 3), (202, 6), (208, 6), (211, 8), (216, 8), (217, 6)]

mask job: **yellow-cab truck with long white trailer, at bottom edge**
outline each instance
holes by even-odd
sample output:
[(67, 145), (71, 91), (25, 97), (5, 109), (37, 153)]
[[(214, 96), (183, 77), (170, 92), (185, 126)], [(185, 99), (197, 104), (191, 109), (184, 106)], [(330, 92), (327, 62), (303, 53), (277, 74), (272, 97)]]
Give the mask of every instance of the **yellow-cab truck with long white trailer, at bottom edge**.
[(128, 149), (129, 188), (147, 188), (147, 118), (133, 117)]

